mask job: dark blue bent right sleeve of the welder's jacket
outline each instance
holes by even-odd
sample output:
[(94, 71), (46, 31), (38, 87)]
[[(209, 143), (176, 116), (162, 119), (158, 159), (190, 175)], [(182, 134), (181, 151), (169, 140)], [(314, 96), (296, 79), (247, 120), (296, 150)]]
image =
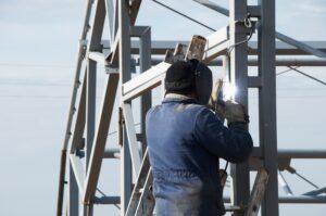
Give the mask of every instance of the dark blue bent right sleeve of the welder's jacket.
[(234, 123), (227, 128), (208, 109), (196, 116), (195, 137), (209, 152), (231, 163), (248, 160), (253, 145), (243, 124)]

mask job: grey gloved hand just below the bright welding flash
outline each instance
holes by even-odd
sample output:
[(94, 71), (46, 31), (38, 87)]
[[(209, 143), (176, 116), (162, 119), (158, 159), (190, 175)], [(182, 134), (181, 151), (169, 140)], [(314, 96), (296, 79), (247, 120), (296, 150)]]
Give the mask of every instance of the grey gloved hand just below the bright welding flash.
[(225, 118), (230, 123), (249, 123), (249, 116), (244, 112), (243, 105), (234, 101), (225, 102)]

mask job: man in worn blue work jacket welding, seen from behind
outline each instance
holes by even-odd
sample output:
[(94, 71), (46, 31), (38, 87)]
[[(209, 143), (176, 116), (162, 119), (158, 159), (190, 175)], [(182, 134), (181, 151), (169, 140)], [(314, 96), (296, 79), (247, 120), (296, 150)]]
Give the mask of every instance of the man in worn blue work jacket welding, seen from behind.
[(218, 158), (244, 162), (252, 139), (239, 104), (224, 109), (228, 128), (198, 103), (198, 62), (179, 61), (166, 72), (166, 96), (147, 114), (156, 216), (224, 215)]

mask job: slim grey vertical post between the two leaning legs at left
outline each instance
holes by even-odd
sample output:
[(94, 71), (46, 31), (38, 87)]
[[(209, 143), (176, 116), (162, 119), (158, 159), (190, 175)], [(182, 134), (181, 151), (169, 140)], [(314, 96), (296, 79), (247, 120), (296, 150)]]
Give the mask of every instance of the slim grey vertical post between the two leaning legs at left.
[[(96, 84), (97, 84), (97, 62), (88, 60), (87, 64), (87, 87), (86, 87), (86, 163), (85, 173), (87, 174), (91, 147), (95, 136), (96, 124)], [(86, 176), (85, 174), (85, 176)], [(92, 215), (92, 204), (84, 204), (84, 215)]]

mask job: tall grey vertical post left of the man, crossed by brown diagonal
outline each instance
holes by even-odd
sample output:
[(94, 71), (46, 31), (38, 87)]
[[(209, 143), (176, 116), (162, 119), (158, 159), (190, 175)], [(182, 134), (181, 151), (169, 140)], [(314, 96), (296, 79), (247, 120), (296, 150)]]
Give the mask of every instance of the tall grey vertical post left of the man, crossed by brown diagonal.
[[(130, 18), (128, 16), (128, 1), (118, 1), (118, 68), (121, 100), (123, 98), (122, 85), (130, 79)], [(124, 101), (121, 101), (121, 104)], [(123, 107), (123, 105), (121, 105)], [(121, 215), (125, 215), (131, 194), (131, 158), (128, 148), (126, 129), (123, 131), (123, 147), (121, 148)]]

